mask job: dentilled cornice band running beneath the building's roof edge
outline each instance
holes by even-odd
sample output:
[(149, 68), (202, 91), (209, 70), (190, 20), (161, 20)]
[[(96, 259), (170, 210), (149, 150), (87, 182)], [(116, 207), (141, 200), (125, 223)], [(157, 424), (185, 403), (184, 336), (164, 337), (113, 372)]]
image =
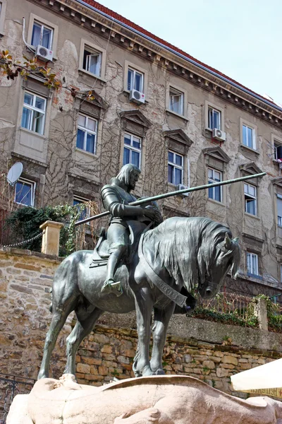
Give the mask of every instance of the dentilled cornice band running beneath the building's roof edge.
[(156, 61), (158, 66), (164, 66), (171, 73), (184, 78), (195, 86), (201, 87), (209, 93), (217, 95), (222, 100), (231, 102), (236, 107), (240, 107), (240, 109), (254, 114), (255, 117), (264, 119), (269, 124), (282, 129), (282, 112), (271, 107), (271, 105), (255, 98), (255, 95), (245, 93), (243, 88), (241, 90), (232, 86), (231, 83), (221, 80), (218, 76), (200, 69), (198, 66), (173, 54), (173, 52), (169, 52), (164, 47), (134, 33), (129, 28), (125, 28), (102, 14), (93, 11), (90, 7), (79, 4), (75, 0), (27, 1), (48, 8), (63, 18), (72, 20), (74, 24), (83, 26), (90, 32), (107, 40), (111, 37), (111, 42), (125, 49), (130, 49), (137, 56), (148, 61)]

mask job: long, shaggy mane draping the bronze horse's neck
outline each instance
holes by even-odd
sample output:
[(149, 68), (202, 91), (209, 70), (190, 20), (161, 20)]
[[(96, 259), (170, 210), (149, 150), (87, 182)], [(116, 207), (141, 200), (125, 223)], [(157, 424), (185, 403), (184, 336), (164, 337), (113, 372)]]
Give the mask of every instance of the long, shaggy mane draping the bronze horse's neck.
[[(224, 240), (226, 232), (232, 238), (228, 227), (209, 218), (168, 218), (149, 231), (146, 238), (155, 240), (154, 260), (159, 256), (161, 265), (176, 283), (184, 283), (189, 291), (204, 282), (214, 261), (214, 249)], [(237, 256), (235, 252), (232, 276), (238, 270)]]

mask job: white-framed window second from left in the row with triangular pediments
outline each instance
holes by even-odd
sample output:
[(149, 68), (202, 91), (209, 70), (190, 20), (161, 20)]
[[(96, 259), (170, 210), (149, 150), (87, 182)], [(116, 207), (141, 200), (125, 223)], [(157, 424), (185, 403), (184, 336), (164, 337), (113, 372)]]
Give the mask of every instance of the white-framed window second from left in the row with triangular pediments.
[(76, 147), (89, 153), (96, 151), (97, 121), (83, 114), (78, 114), (78, 135)]

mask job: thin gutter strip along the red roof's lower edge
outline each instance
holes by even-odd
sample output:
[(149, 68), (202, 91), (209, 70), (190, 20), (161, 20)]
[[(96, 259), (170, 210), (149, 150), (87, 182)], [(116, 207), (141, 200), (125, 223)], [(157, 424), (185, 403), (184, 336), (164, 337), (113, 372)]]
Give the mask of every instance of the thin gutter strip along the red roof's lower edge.
[(268, 100), (266, 100), (262, 96), (257, 95), (255, 93), (252, 93), (252, 91), (247, 90), (247, 88), (238, 86), (238, 84), (234, 83), (233, 81), (228, 80), (228, 78), (225, 78), (224, 76), (220, 75), (219, 73), (216, 73), (216, 72), (212, 71), (212, 69), (209, 69), (206, 66), (197, 63), (197, 61), (195, 61), (193, 59), (190, 59), (190, 57), (187, 57), (184, 54), (181, 54), (179, 52), (176, 52), (176, 50), (171, 49), (171, 47), (168, 47), (168, 46), (162, 44), (161, 42), (154, 40), (152, 37), (149, 37), (149, 35), (145, 35), (145, 34), (141, 33), (140, 31), (135, 30), (135, 28), (130, 27), (126, 23), (121, 22), (121, 20), (115, 19), (112, 16), (108, 15), (107, 13), (104, 13), (102, 11), (99, 11), (99, 9), (97, 9), (94, 6), (91, 6), (88, 3), (85, 3), (85, 1), (83, 1), (83, 0), (75, 0), (75, 1), (77, 1), (80, 4), (82, 4), (83, 6), (86, 6), (88, 8), (91, 8), (93, 11), (99, 13), (102, 16), (105, 16), (105, 18), (108, 18), (109, 20), (114, 20), (114, 22), (118, 23), (118, 25), (121, 25), (124, 28), (127, 28), (128, 30), (132, 31), (133, 33), (135, 33), (137, 35), (140, 35), (143, 38), (146, 38), (146, 40), (149, 40), (151, 42), (154, 42), (154, 44), (159, 45), (163, 49), (168, 50), (168, 52), (171, 52), (173, 54), (176, 54), (176, 56), (181, 57), (181, 59), (185, 59), (186, 61), (190, 62), (191, 64), (193, 64), (195, 66), (197, 66), (198, 68), (203, 69), (204, 71), (206, 71), (208, 73), (211, 73), (212, 75), (214, 75), (217, 78), (221, 79), (221, 81), (224, 81), (224, 82), (230, 84), (231, 86), (233, 86), (235, 88), (238, 88), (239, 90), (244, 91), (244, 93), (247, 93), (248, 95), (252, 95), (252, 97), (256, 98), (257, 100), (260, 100), (260, 101), (266, 103), (266, 105), (269, 105), (271, 107), (274, 107), (274, 109), (278, 110), (279, 112), (282, 112), (282, 107), (278, 107), (278, 105), (275, 105), (274, 103), (269, 102)]

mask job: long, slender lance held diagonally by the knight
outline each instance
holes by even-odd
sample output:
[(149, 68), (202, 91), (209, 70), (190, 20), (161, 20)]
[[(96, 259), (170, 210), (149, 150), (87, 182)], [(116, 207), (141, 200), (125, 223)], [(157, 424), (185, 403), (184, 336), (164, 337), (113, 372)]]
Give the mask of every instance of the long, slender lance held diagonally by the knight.
[[(167, 197), (179, 196), (181, 194), (191, 193), (191, 192), (198, 192), (199, 190), (211, 189), (212, 187), (219, 187), (219, 186), (223, 186), (223, 185), (226, 185), (226, 184), (233, 184), (233, 182), (245, 181), (245, 179), (264, 177), (264, 175), (266, 175), (266, 172), (261, 172), (260, 174), (247, 175), (246, 177), (226, 179), (226, 181), (213, 182), (212, 184), (205, 184), (205, 185), (202, 185), (202, 186), (191, 187), (191, 188), (188, 188), (188, 189), (176, 190), (176, 192), (157, 194), (157, 196), (143, 197), (142, 199), (130, 202), (128, 205), (129, 206), (140, 206), (142, 204), (151, 203), (152, 201), (156, 201), (156, 200), (160, 200), (160, 199), (166, 199)], [(77, 225), (89, 223), (91, 220), (102, 218), (103, 216), (107, 216), (109, 214), (110, 214), (109, 211), (106, 211), (106, 212), (99, 213), (98, 215), (95, 215), (95, 216), (90, 216), (90, 218), (82, 219), (82, 220), (75, 223), (75, 227)]]

